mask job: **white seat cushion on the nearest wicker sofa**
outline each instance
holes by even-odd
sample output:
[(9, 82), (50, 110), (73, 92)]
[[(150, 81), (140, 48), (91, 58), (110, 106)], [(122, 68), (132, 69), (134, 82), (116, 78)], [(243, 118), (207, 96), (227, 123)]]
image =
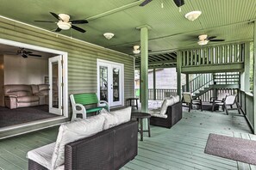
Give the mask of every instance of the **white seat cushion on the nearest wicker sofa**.
[(53, 149), (55, 143), (50, 143), (40, 148), (28, 151), (27, 157), (29, 160), (35, 161), (47, 169), (52, 167)]

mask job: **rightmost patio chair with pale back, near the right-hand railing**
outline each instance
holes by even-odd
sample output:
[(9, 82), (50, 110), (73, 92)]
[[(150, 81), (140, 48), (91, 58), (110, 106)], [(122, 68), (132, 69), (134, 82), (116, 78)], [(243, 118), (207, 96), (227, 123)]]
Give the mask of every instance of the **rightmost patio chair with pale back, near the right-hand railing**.
[[(238, 104), (238, 102), (236, 101), (236, 97), (237, 95), (227, 95), (226, 98), (224, 100), (214, 100), (213, 104), (212, 104), (212, 112), (214, 111), (214, 106), (222, 106), (222, 110), (226, 111), (227, 115), (228, 115), (228, 110), (238, 110), (239, 114), (240, 114), (240, 106)], [(236, 108), (233, 108), (234, 104), (236, 105)], [(228, 108), (228, 106), (230, 106), (230, 108)]]

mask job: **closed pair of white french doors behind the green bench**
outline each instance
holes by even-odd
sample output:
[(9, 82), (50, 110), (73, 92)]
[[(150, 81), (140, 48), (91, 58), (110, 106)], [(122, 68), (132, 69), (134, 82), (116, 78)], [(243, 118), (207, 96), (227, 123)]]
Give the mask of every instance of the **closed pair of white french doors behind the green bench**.
[(98, 96), (109, 102), (109, 106), (120, 106), (123, 101), (122, 64), (98, 61)]

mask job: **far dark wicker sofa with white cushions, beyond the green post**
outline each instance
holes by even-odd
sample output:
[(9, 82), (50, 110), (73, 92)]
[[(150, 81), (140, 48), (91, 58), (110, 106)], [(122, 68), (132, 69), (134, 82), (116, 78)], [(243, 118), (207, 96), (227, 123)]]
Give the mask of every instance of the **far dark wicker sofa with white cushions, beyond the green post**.
[(160, 109), (149, 112), (150, 124), (171, 128), (182, 118), (182, 102), (179, 97), (165, 99)]

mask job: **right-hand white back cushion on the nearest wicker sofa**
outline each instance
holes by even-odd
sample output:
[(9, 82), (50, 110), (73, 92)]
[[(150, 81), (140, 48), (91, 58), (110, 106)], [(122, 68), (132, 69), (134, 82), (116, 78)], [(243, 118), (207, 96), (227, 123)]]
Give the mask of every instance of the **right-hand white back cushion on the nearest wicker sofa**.
[(103, 109), (101, 114), (105, 117), (104, 130), (114, 127), (118, 124), (123, 124), (131, 119), (132, 107), (127, 107), (117, 111), (108, 112)]

